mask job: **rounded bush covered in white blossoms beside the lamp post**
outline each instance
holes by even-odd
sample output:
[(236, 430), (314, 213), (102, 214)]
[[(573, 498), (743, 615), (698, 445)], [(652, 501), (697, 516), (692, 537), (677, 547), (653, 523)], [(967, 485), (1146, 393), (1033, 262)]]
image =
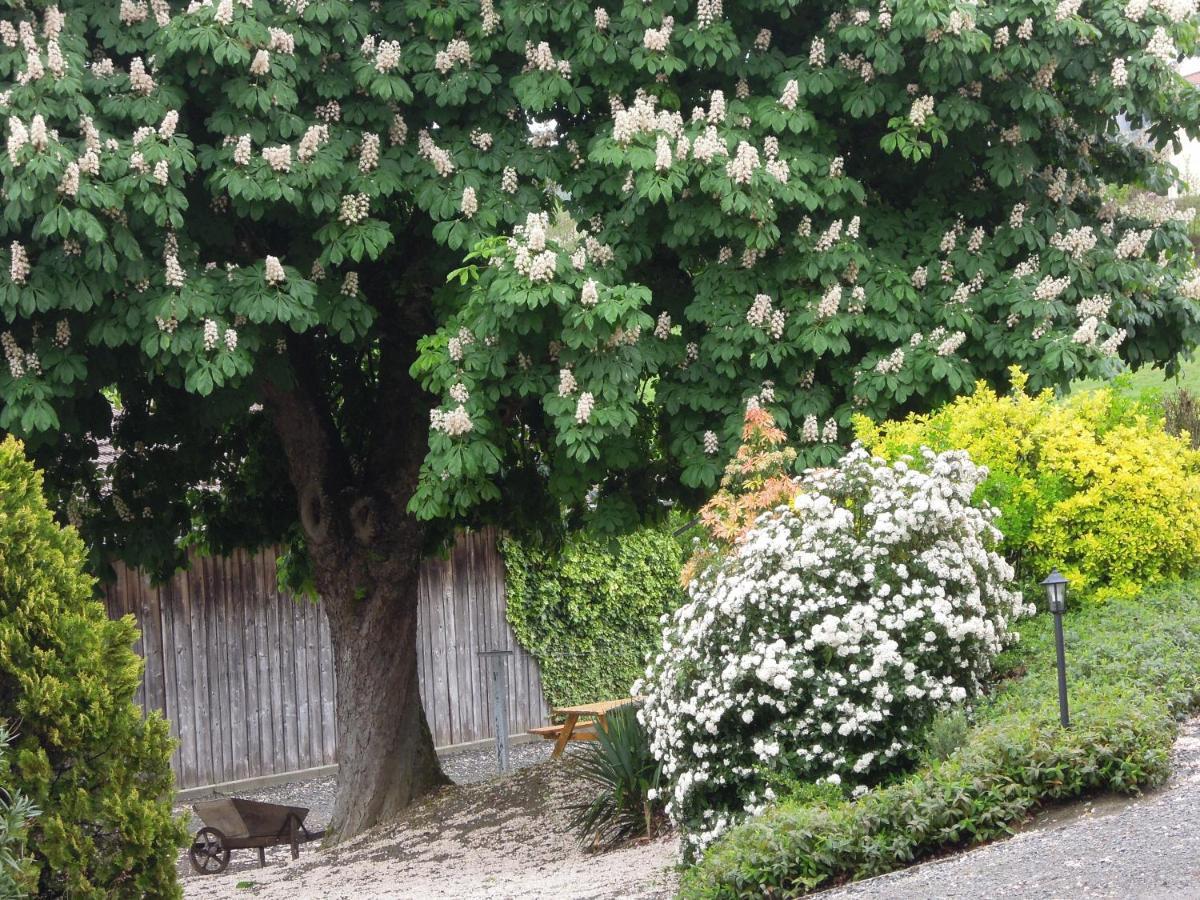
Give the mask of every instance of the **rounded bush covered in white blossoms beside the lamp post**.
[(997, 512), (971, 500), (986, 469), (923, 457), (856, 445), (691, 582), (641, 686), (689, 853), (761, 810), (782, 774), (877, 780), (1014, 640), (1026, 610)]

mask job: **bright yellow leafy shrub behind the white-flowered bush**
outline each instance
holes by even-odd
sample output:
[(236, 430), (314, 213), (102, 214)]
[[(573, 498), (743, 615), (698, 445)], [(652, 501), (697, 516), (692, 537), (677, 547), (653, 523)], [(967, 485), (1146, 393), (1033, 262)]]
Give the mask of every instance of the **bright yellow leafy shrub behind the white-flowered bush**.
[(1093, 599), (1127, 595), (1200, 568), (1200, 452), (1134, 402), (1100, 389), (997, 395), (984, 384), (930, 415), (858, 438), (888, 458), (922, 445), (960, 449), (990, 470), (980, 499), (1001, 510), (1004, 550), (1021, 577), (1052, 566)]

